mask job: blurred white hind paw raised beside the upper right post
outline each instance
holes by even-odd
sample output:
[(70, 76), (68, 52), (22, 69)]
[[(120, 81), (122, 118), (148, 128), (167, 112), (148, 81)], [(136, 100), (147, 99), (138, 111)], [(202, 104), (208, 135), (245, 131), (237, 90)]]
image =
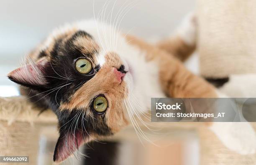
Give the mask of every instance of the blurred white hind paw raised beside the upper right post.
[(197, 37), (197, 17), (195, 13), (189, 13), (178, 27), (178, 34), (188, 45), (194, 45)]

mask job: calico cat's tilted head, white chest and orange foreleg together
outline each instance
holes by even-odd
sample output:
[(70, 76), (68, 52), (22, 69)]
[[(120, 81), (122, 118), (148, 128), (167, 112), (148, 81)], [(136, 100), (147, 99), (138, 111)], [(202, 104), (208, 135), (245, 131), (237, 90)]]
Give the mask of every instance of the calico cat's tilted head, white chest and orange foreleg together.
[(218, 96), (166, 51), (94, 20), (54, 30), (8, 77), (58, 117), (55, 162), (127, 126), (131, 103), (143, 113), (151, 97)]

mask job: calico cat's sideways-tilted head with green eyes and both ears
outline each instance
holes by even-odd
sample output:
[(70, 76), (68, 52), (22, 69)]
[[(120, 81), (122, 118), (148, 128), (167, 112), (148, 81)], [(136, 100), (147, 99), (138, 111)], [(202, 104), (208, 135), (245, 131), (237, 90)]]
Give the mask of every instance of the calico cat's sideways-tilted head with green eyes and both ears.
[(84, 142), (113, 135), (128, 124), (124, 100), (132, 90), (133, 75), (122, 58), (128, 55), (118, 51), (118, 44), (126, 41), (109, 28), (86, 21), (57, 29), (31, 54), (35, 63), (8, 75), (40, 93), (57, 115), (56, 162)]

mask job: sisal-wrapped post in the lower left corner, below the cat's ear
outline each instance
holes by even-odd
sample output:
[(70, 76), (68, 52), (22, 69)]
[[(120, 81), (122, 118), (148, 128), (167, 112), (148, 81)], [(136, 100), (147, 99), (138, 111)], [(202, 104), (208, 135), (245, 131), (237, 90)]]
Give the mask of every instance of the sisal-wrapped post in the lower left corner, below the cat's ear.
[[(0, 98), (1, 156), (29, 156), (30, 165), (38, 164), (39, 142), (44, 133), (43, 129), (57, 125), (56, 116), (50, 110), (38, 116), (39, 112), (40, 110), (26, 97)], [(57, 129), (51, 133), (56, 137), (58, 135)]]

